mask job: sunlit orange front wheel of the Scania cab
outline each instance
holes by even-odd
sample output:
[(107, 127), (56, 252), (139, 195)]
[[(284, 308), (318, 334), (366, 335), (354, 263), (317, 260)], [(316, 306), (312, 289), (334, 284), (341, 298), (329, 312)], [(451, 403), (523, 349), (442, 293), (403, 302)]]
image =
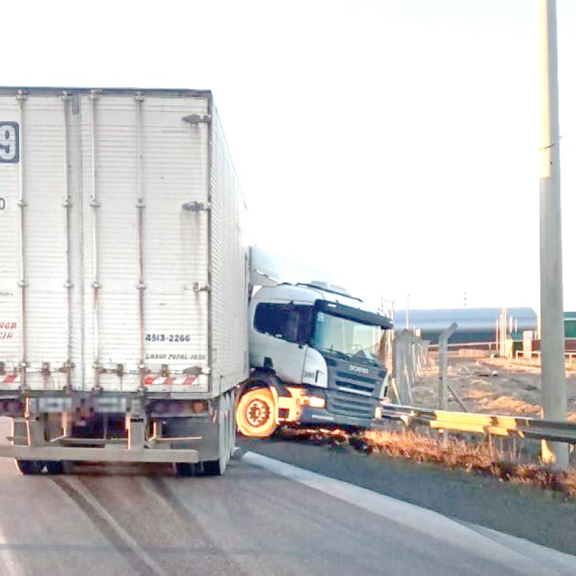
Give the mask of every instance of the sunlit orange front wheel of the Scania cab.
[(272, 392), (268, 388), (256, 388), (243, 394), (236, 408), (236, 424), (243, 436), (271, 436), (278, 427)]

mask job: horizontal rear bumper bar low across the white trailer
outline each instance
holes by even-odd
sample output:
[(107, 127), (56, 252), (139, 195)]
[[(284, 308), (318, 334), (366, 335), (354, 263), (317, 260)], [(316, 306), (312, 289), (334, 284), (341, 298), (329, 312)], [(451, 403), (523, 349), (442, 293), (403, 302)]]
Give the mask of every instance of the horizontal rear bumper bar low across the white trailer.
[(0, 446), (0, 457), (16, 460), (86, 462), (190, 462), (195, 464), (199, 461), (196, 450), (72, 446)]

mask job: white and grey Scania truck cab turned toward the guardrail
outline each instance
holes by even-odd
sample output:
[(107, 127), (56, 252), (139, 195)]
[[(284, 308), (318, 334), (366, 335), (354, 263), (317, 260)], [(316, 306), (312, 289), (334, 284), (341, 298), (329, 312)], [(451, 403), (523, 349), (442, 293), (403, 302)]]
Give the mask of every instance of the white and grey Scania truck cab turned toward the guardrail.
[(261, 287), (248, 309), (250, 379), (239, 431), (267, 437), (279, 425), (370, 427), (387, 395), (392, 322), (328, 283)]

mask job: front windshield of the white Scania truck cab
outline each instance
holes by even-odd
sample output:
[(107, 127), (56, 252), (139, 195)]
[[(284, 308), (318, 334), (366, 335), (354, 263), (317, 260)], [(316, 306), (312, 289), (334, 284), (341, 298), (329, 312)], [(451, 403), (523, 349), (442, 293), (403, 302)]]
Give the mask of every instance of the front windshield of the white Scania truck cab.
[(312, 346), (356, 361), (380, 363), (384, 355), (385, 331), (380, 326), (318, 312)]

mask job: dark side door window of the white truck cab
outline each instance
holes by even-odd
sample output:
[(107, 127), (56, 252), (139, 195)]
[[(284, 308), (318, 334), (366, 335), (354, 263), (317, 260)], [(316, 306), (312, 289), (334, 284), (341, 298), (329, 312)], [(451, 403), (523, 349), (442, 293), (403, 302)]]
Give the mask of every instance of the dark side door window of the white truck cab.
[(312, 307), (295, 304), (258, 304), (254, 314), (254, 328), (289, 342), (307, 344)]

